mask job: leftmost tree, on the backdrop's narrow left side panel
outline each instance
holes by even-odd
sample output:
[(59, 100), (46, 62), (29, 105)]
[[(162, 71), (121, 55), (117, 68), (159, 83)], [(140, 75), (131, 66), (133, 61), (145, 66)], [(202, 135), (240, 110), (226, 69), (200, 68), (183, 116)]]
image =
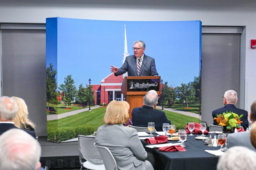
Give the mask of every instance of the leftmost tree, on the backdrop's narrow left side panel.
[(56, 92), (57, 82), (55, 78), (57, 71), (52, 67), (53, 65), (51, 63), (49, 67), (46, 67), (46, 101), (48, 102), (48, 109), (49, 102), (57, 104), (58, 101), (58, 92)]

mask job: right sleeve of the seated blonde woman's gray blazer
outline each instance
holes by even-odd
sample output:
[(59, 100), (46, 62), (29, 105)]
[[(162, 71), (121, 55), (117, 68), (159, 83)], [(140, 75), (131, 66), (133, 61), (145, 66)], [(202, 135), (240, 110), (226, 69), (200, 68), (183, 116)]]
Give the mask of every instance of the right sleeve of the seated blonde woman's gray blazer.
[[(129, 127), (130, 128), (130, 127)], [(133, 154), (136, 156), (137, 159), (139, 160), (146, 160), (147, 158), (147, 152), (145, 151), (145, 149), (143, 148), (143, 145), (137, 135), (137, 131), (134, 128), (131, 128), (130, 131), (130, 138), (128, 138), (129, 140), (129, 145), (130, 145), (130, 149), (133, 152)]]

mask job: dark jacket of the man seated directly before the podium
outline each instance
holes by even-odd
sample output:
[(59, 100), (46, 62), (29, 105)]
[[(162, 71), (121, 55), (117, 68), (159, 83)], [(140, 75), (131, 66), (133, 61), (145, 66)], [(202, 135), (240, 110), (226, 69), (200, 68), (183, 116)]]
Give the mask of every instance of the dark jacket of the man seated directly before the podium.
[(143, 105), (132, 110), (133, 126), (147, 127), (148, 122), (155, 122), (157, 131), (163, 131), (163, 123), (171, 124), (163, 111), (155, 110), (153, 107)]

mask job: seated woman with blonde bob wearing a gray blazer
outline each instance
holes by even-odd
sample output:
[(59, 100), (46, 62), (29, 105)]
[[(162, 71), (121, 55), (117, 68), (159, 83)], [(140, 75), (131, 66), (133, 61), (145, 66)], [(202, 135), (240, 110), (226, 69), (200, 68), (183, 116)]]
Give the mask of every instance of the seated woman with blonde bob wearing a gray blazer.
[(96, 145), (107, 147), (113, 154), (118, 169), (153, 169), (146, 160), (147, 152), (134, 128), (123, 123), (129, 118), (130, 106), (125, 101), (111, 101), (104, 116), (105, 125), (96, 133)]

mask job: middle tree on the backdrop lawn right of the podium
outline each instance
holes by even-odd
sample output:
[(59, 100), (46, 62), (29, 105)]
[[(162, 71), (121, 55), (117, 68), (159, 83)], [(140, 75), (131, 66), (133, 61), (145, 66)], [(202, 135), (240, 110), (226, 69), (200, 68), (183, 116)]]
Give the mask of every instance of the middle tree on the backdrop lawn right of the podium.
[(181, 86), (175, 87), (175, 92), (177, 94), (177, 98), (182, 101), (184, 100), (187, 103), (187, 107), (188, 102), (193, 102), (195, 100), (195, 88), (191, 82), (188, 84), (181, 83)]

